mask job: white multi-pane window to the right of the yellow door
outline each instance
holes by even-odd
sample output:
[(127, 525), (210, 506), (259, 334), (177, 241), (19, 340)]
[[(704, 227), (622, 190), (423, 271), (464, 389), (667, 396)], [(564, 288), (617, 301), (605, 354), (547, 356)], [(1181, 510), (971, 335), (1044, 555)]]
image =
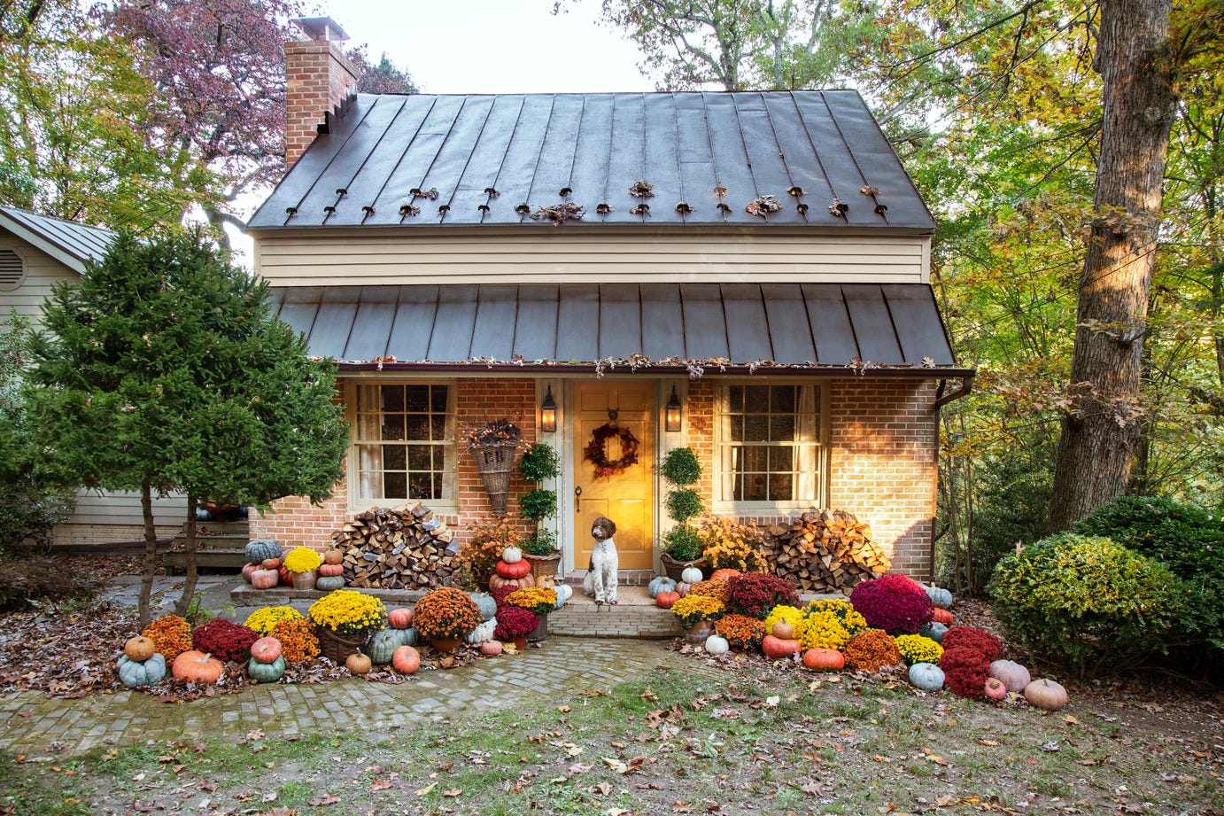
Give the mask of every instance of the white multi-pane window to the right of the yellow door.
[(720, 499), (818, 501), (821, 456), (816, 386), (732, 385), (721, 391)]

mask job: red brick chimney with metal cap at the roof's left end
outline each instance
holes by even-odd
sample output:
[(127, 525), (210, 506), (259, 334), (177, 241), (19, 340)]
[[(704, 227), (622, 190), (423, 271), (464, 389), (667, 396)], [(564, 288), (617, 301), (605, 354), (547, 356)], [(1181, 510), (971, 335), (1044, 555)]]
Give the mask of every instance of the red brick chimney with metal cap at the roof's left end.
[(340, 51), (349, 38), (330, 17), (294, 23), (308, 39), (285, 43), (285, 164), (293, 167), (326, 134), (357, 86), (353, 62)]

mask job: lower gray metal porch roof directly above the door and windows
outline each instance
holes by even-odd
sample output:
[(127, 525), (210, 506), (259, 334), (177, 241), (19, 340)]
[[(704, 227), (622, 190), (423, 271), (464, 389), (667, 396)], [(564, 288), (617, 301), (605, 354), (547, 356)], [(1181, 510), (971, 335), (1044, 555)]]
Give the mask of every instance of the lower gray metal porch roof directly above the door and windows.
[(273, 298), (312, 354), (349, 368), (715, 360), (946, 376), (929, 366), (956, 364), (934, 294), (918, 283), (286, 287)]

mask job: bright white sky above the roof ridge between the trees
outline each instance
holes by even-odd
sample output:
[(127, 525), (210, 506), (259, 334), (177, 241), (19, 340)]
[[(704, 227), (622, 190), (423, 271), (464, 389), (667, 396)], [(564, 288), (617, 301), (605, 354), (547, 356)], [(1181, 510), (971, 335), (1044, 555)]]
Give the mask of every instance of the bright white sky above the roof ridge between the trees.
[(636, 47), (597, 22), (600, 0), (323, 0), (353, 44), (408, 69), (425, 93), (652, 91)]

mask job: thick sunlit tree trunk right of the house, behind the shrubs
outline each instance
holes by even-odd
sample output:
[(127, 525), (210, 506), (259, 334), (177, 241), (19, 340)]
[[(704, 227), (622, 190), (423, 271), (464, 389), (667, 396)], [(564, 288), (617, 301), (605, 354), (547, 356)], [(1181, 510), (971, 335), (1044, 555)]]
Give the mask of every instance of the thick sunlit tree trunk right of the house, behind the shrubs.
[(1048, 529), (1065, 529), (1126, 489), (1162, 180), (1173, 125), (1170, 0), (1102, 0), (1103, 80), (1095, 219), (1083, 273)]

